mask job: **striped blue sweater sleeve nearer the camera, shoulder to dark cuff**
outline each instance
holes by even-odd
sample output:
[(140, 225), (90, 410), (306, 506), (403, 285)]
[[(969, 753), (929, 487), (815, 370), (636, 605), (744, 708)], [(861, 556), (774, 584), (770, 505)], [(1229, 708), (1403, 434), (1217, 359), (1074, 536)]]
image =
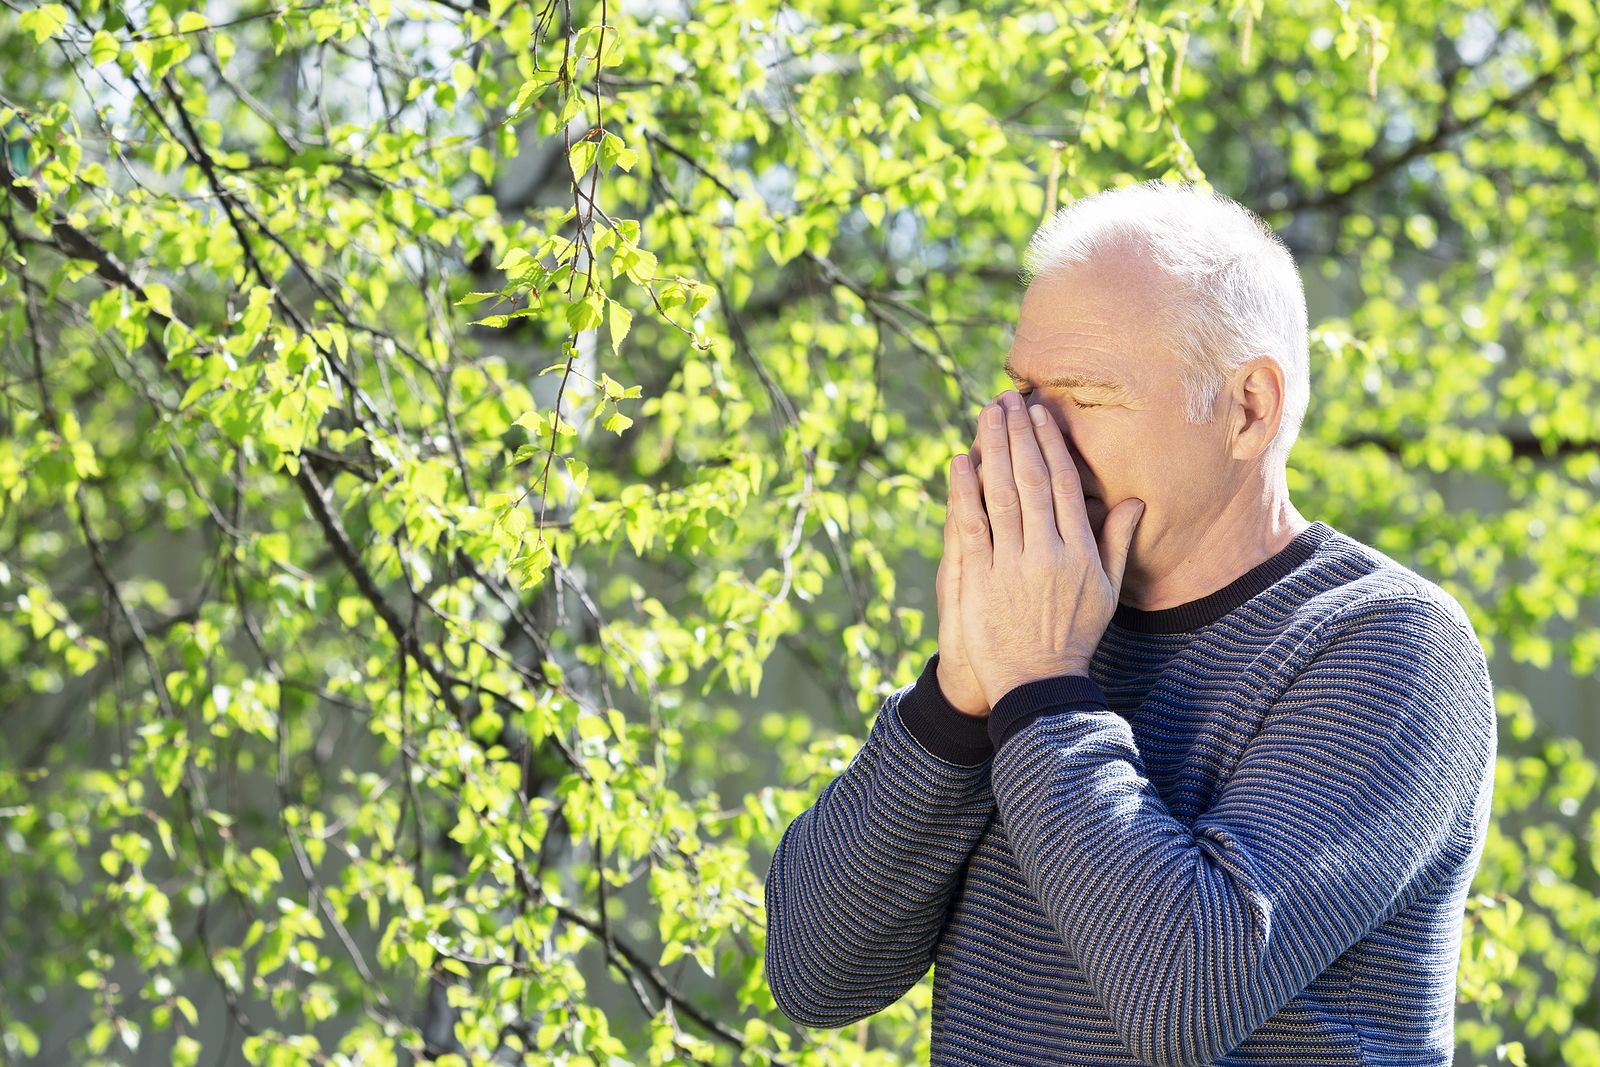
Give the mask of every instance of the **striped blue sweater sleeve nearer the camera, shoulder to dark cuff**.
[(1192, 825), (1085, 675), (990, 713), (1011, 851), (1142, 1064), (1230, 1053), (1486, 830), (1496, 713), (1466, 613), (1386, 597), (1330, 633)]

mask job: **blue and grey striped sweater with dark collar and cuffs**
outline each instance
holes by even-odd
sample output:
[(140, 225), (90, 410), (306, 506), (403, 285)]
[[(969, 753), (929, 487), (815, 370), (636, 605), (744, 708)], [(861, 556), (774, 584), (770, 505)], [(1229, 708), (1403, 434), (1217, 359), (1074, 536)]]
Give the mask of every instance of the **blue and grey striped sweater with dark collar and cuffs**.
[(987, 718), (936, 669), (779, 838), (794, 1022), (931, 965), (933, 1067), (1451, 1062), (1496, 713), (1446, 590), (1317, 522)]

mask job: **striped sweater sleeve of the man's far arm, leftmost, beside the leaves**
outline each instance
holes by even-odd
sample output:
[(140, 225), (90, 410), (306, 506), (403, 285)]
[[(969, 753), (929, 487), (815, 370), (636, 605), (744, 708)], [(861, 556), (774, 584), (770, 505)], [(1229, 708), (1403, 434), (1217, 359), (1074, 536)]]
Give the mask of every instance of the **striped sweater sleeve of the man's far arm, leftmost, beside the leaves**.
[(789, 1019), (842, 1027), (928, 973), (950, 894), (994, 817), (982, 718), (938, 654), (891, 693), (850, 765), (784, 830), (766, 873), (766, 982)]

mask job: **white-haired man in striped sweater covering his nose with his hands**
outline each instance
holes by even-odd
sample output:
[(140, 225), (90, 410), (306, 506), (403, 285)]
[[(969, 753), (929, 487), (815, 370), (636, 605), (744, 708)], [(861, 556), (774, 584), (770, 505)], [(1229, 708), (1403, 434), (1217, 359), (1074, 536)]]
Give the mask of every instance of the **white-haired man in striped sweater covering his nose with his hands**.
[(939, 651), (773, 857), (773, 997), (838, 1027), (931, 963), (934, 1065), (1450, 1064), (1493, 686), (1450, 593), (1290, 504), (1288, 250), (1149, 182), (1026, 262)]

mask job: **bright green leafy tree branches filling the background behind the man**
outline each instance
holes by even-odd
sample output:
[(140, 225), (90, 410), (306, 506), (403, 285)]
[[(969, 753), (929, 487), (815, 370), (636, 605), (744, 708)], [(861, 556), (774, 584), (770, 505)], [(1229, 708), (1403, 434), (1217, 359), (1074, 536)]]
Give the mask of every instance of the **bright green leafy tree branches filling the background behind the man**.
[[(765, 856), (933, 651), (1019, 250), (1107, 186), (1203, 178), (1294, 248), (1301, 510), (1592, 672), (1597, 35), (6, 0), (5, 1056), (925, 1059), (926, 981), (776, 1011)], [(1458, 1033), (1600, 1064), (1595, 766), (1499, 701)]]

